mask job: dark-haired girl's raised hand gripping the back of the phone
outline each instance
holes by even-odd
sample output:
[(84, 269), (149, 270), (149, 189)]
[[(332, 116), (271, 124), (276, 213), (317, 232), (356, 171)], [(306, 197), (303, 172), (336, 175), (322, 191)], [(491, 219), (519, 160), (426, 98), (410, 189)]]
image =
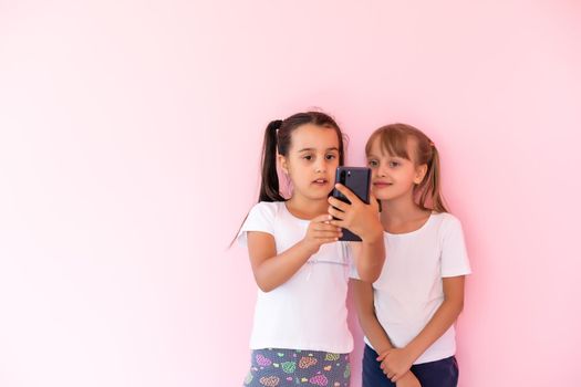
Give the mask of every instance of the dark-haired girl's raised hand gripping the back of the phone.
[(383, 227), (378, 217), (380, 205), (373, 194), (370, 192), (370, 205), (366, 205), (345, 186), (336, 184), (335, 188), (351, 201), (351, 205), (329, 197), (331, 205), (329, 213), (338, 219), (332, 220), (331, 224), (347, 229), (364, 241), (382, 238)]

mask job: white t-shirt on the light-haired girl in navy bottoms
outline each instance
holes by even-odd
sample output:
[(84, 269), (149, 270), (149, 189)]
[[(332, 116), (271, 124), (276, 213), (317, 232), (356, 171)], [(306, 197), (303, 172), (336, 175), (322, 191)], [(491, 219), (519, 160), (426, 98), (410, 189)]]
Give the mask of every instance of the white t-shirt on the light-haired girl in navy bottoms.
[[(432, 213), (422, 228), (412, 232), (384, 232), (384, 240), (387, 257), (373, 283), (375, 314), (392, 344), (401, 348), (419, 334), (442, 305), (442, 279), (469, 274), (470, 264), (461, 224), (450, 213)], [(354, 266), (352, 276), (359, 278)], [(366, 337), (365, 343), (371, 346)], [(453, 325), (414, 364), (455, 353)]]

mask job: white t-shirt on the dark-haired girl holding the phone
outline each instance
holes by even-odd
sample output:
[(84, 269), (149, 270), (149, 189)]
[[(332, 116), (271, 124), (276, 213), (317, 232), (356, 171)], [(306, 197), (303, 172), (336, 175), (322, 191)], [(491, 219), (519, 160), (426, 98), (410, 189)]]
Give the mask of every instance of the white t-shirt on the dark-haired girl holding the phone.
[[(292, 216), (283, 201), (259, 202), (249, 212), (238, 241), (248, 231), (274, 237), (277, 254), (302, 240), (309, 221)], [(351, 265), (346, 242), (326, 243), (286, 283), (258, 290), (251, 349), (289, 348), (346, 354), (353, 349), (345, 305)]]

